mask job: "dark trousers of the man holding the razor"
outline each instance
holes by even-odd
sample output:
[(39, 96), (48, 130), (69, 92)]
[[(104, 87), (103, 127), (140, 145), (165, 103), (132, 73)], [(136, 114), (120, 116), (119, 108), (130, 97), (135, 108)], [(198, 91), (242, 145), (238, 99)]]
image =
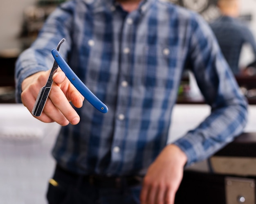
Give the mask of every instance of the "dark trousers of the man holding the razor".
[(49, 181), (49, 204), (139, 204), (141, 177), (101, 177), (56, 167)]

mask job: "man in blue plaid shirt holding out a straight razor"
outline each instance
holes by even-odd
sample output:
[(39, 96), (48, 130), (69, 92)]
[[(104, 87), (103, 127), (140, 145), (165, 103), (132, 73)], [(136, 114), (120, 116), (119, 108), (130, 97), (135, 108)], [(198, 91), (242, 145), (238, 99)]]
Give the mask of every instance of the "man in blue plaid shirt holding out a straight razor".
[[(37, 117), (63, 125), (49, 203), (173, 204), (184, 166), (211, 156), (246, 124), (247, 103), (208, 24), (159, 0), (61, 5), (16, 64), (17, 99), (30, 112), (49, 76), (51, 50), (63, 37), (61, 55), (109, 111), (83, 101), (60, 69), (54, 74)], [(212, 112), (166, 144), (188, 65)]]

